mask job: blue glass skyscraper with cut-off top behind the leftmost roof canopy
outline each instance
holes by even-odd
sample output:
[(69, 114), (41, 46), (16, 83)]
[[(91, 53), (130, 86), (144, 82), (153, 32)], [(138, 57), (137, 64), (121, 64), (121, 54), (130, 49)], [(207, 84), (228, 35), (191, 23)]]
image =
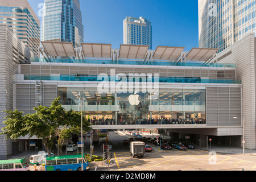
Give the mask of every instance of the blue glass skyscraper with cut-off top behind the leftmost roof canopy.
[(42, 41), (84, 42), (84, 26), (79, 0), (45, 0), (42, 20)]

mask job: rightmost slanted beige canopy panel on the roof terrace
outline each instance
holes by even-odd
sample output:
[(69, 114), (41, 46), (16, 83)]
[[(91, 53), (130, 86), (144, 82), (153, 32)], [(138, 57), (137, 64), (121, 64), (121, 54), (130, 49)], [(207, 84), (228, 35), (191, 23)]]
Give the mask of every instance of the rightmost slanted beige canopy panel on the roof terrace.
[(218, 49), (212, 48), (192, 48), (186, 56), (186, 60), (207, 61), (216, 53)]

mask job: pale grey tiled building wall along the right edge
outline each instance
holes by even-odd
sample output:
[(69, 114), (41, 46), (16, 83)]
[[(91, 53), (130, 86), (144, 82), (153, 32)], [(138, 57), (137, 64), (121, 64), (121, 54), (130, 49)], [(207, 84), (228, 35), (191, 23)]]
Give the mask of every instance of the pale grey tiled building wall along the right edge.
[(246, 148), (255, 149), (255, 37), (249, 34), (219, 53), (216, 63), (237, 65), (236, 77), (242, 80), (242, 118)]

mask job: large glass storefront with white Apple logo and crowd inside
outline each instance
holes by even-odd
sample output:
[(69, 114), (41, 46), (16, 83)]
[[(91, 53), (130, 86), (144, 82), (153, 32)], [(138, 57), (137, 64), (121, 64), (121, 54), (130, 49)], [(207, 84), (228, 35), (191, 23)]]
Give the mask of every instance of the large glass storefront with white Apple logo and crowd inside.
[[(98, 92), (97, 88), (58, 88), (65, 109), (80, 110), (96, 125), (205, 124), (205, 89), (159, 89), (154, 93)], [(107, 123), (107, 121), (109, 123)]]

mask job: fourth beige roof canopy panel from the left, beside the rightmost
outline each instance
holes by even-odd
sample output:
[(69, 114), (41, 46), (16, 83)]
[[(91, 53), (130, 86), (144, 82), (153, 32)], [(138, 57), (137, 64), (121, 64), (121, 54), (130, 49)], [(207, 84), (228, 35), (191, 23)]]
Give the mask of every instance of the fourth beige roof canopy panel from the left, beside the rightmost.
[(158, 46), (153, 55), (156, 60), (177, 60), (185, 47)]

